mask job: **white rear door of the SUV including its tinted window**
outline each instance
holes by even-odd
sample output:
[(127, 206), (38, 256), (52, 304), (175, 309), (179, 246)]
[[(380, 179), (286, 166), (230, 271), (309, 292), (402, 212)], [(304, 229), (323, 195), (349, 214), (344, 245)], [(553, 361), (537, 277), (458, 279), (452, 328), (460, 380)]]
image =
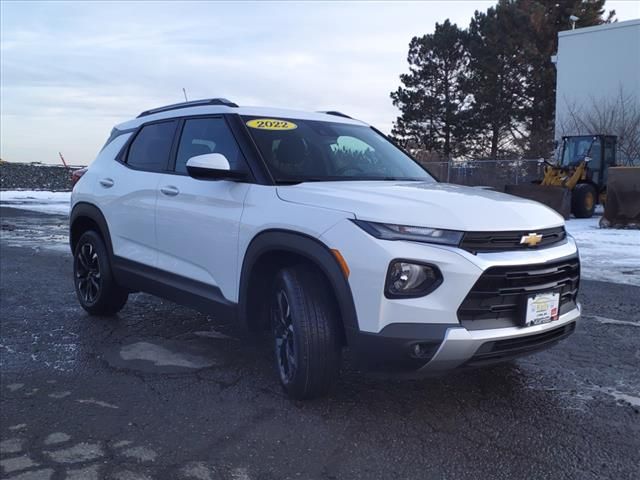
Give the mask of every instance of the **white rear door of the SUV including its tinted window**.
[(157, 242), (155, 206), (161, 173), (169, 166), (176, 120), (143, 126), (121, 162), (98, 179), (101, 205), (109, 224), (114, 254), (155, 266)]

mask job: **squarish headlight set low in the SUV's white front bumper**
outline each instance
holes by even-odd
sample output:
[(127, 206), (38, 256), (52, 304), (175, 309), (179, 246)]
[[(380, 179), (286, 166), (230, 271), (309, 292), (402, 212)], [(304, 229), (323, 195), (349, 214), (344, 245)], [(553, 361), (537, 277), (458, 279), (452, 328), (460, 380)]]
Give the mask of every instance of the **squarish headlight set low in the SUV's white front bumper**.
[(387, 298), (423, 297), (442, 283), (435, 265), (410, 260), (394, 260), (389, 265), (384, 294)]

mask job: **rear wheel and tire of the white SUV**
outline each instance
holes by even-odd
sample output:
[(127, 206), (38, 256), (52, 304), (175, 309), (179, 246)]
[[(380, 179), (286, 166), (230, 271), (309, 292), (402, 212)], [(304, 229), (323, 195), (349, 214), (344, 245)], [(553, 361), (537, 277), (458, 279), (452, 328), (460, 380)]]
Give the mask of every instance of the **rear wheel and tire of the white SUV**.
[(90, 315), (115, 315), (129, 297), (119, 287), (102, 237), (89, 230), (82, 234), (73, 254), (73, 281), (78, 301)]

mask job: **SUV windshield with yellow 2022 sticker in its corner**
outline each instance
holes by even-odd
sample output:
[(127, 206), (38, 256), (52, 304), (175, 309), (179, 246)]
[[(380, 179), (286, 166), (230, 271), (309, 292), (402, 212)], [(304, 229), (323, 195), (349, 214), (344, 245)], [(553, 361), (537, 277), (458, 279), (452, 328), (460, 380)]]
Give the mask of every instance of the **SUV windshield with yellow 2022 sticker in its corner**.
[(364, 125), (246, 116), (243, 120), (279, 183), (435, 181), (402, 150)]

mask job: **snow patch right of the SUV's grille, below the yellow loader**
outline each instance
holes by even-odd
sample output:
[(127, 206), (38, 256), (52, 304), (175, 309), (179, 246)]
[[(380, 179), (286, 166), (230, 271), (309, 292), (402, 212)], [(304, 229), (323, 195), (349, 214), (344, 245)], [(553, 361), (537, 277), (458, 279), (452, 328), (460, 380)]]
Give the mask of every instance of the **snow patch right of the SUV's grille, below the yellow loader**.
[(600, 217), (567, 221), (580, 249), (582, 276), (640, 286), (640, 230), (598, 228)]

